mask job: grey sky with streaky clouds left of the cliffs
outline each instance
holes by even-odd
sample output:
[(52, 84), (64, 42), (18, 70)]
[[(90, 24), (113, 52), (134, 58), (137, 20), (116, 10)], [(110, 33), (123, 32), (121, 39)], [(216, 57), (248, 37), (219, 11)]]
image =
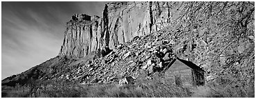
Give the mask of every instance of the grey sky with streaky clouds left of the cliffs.
[(57, 56), (73, 14), (102, 17), (107, 2), (1, 2), (1, 79)]

